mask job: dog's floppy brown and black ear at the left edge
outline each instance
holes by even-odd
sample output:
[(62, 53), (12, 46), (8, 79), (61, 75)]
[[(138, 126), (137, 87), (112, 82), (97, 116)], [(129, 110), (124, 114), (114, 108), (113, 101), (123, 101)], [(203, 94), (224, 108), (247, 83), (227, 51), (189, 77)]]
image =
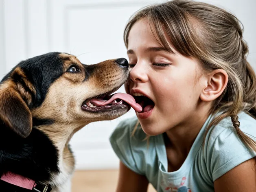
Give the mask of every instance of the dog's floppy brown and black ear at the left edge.
[(28, 105), (32, 102), (35, 88), (21, 68), (16, 68), (0, 84), (0, 122), (21, 137), (32, 130), (32, 114)]

